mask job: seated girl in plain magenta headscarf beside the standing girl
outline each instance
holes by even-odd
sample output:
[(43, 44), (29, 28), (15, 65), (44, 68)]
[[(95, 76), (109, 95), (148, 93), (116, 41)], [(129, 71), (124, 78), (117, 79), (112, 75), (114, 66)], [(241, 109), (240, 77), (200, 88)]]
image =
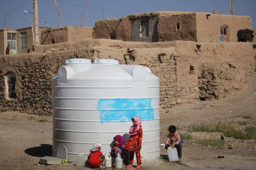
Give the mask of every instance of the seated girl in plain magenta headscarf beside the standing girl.
[(123, 164), (128, 165), (129, 164), (129, 151), (124, 149), (125, 143), (124, 138), (121, 135), (116, 135), (114, 137), (115, 146), (111, 149), (110, 155), (115, 156), (117, 153), (121, 155), (121, 158), (123, 159)]

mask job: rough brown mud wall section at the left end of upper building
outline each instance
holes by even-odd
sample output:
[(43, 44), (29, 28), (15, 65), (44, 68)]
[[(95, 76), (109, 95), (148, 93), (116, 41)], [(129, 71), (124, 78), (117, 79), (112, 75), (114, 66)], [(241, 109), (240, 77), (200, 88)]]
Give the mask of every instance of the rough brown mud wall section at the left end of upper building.
[(110, 39), (110, 33), (116, 33), (116, 40), (131, 41), (131, 21), (129, 17), (102, 19), (95, 22), (93, 32), (95, 39)]

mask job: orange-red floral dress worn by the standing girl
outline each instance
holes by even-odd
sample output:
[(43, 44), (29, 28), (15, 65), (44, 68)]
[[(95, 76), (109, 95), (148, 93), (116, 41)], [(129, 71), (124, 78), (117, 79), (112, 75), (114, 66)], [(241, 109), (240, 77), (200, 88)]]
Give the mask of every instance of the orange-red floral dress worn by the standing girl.
[[(134, 130), (135, 130), (135, 128), (134, 128)], [(140, 127), (140, 129), (136, 135), (130, 136), (130, 139), (128, 140), (124, 149), (127, 149), (128, 151), (137, 152), (138, 146), (139, 146), (139, 144), (141, 144), (141, 142), (142, 142), (142, 128)]]

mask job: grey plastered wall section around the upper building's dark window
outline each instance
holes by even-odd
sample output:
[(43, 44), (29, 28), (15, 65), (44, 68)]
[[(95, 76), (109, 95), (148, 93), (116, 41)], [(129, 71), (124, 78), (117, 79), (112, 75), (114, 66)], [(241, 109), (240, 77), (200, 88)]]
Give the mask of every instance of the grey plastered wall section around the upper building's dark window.
[[(148, 20), (148, 36), (140, 37), (140, 22)], [(140, 16), (131, 19), (131, 41), (158, 42), (157, 16)]]

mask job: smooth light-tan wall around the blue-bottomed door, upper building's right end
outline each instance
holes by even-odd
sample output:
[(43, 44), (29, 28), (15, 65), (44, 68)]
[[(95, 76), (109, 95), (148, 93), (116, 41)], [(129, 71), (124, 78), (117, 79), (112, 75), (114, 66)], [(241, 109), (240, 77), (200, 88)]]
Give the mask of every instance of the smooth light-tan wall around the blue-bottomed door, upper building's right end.
[[(208, 19), (206, 15), (210, 15)], [(197, 41), (220, 42), (220, 27), (223, 25), (228, 26), (228, 42), (237, 42), (237, 31), (252, 29), (252, 20), (248, 16), (196, 12)]]

